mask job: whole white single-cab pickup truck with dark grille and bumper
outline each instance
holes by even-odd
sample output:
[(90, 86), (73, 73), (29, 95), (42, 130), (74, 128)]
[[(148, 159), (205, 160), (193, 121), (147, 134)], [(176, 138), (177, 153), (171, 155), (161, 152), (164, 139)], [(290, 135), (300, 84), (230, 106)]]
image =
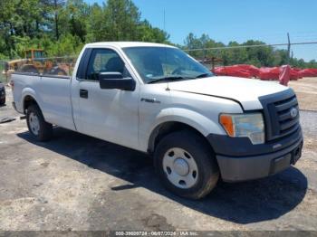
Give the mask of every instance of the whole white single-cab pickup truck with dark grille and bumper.
[(39, 141), (53, 125), (153, 155), (162, 183), (198, 199), (226, 182), (276, 174), (303, 147), (292, 89), (216, 77), (178, 48), (91, 43), (72, 77), (14, 73), (14, 108)]

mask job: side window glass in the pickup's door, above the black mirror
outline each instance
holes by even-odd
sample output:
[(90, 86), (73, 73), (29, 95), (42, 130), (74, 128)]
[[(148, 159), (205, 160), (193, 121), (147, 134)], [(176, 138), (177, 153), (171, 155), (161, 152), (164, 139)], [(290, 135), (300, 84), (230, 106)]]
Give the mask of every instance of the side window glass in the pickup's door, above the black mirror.
[(93, 49), (88, 63), (86, 80), (98, 81), (98, 75), (101, 72), (120, 72), (124, 78), (130, 77), (117, 52), (109, 49)]

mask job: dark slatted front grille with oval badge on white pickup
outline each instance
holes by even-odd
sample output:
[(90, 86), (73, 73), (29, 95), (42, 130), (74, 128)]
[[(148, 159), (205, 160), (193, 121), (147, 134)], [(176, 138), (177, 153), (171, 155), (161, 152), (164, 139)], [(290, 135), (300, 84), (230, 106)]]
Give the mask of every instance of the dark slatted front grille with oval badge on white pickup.
[(290, 135), (299, 128), (299, 107), (293, 90), (264, 96), (259, 100), (264, 108), (266, 140)]

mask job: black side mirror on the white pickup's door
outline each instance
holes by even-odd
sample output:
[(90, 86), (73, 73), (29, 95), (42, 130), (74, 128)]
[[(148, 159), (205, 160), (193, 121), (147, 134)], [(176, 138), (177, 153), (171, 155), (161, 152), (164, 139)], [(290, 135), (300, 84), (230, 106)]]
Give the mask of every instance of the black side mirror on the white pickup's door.
[(120, 72), (101, 72), (98, 75), (101, 89), (135, 90), (132, 78), (123, 78)]

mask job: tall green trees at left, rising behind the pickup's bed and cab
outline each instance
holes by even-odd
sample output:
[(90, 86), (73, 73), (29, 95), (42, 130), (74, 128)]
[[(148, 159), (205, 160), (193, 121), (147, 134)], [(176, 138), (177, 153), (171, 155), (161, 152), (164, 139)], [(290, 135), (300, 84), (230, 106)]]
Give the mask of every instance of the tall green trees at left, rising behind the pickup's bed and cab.
[(87, 5), (83, 0), (1, 0), (0, 56), (24, 57), (41, 48), (47, 56), (78, 54), (84, 43), (146, 41), (168, 43), (168, 33), (140, 20), (130, 0)]

